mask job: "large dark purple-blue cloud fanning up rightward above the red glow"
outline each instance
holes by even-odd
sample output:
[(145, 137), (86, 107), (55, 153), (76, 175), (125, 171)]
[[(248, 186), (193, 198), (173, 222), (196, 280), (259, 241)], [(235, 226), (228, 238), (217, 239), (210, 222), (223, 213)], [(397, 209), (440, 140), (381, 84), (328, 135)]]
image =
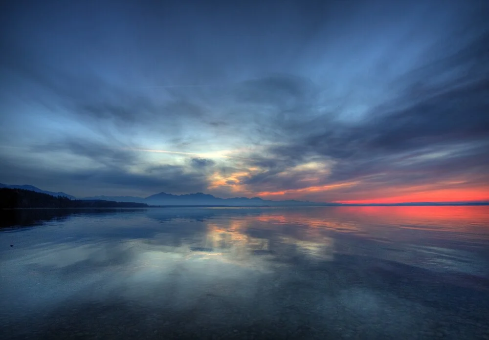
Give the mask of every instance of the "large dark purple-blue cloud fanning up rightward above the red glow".
[[(314, 172), (284, 174), (284, 170), (311, 155), (335, 161), (331, 176), (324, 176), (317, 185), (356, 179), (374, 180), (379, 186), (426, 184), (433, 182), (434, 175), (437, 180), (465, 176), (469, 181), (487, 181), (489, 67), (478, 63), (489, 60), (489, 50), (481, 47), (488, 37), (486, 31), (467, 48), (420, 67), (415, 78), (401, 77), (404, 85), (398, 87), (405, 90), (357, 123), (338, 121), (334, 114), (312, 121), (301, 117), (293, 127), (274, 120), (290, 135), (284, 133), (282, 143), (269, 147), (266, 158), (252, 163), (264, 171), (244, 178), (244, 183), (257, 189), (264, 184), (266, 188), (305, 188), (310, 183), (304, 179)], [(449, 73), (455, 66), (472, 72), (429, 84), (439, 72)], [(419, 79), (426, 80), (426, 85), (419, 85)], [(405, 85), (409, 81), (414, 83)], [(416, 156), (423, 160), (416, 161)]]

